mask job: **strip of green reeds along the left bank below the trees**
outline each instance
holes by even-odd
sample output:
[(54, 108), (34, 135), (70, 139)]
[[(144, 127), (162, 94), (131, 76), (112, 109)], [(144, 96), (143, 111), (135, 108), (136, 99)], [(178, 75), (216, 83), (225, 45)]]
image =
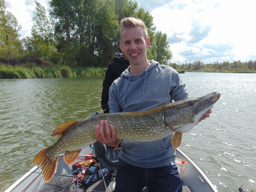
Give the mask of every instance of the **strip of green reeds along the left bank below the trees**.
[(106, 68), (69, 66), (38, 66), (36, 64), (7, 65), (0, 64), (0, 78), (58, 78), (104, 76)]

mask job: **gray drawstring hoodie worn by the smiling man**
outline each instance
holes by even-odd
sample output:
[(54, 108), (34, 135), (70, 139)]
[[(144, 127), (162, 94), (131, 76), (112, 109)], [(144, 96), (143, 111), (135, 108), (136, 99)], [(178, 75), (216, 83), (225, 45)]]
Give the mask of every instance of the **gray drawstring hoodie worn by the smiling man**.
[[(109, 90), (110, 112), (144, 111), (189, 97), (186, 85), (170, 66), (152, 60), (139, 76), (129, 73), (130, 66)], [(151, 142), (122, 141), (120, 158), (134, 166), (154, 168), (171, 165), (176, 153), (172, 134)]]

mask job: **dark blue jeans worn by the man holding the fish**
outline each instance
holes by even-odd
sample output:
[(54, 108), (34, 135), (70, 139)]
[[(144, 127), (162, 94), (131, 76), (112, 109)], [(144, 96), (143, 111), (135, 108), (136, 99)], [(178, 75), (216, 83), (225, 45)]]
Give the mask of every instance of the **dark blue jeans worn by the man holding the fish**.
[(119, 158), (115, 192), (142, 192), (145, 186), (149, 192), (182, 192), (177, 166), (140, 168)]

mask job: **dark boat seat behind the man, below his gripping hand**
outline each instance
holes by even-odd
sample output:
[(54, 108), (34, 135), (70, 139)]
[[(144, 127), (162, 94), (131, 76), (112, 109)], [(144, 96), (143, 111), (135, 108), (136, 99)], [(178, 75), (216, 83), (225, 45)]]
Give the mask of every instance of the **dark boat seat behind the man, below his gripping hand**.
[[(93, 115), (98, 115), (98, 112), (94, 112)], [(121, 152), (121, 147), (114, 151), (113, 147), (102, 144), (96, 141), (93, 144), (95, 157), (100, 160), (100, 163), (104, 168), (109, 170), (116, 170), (118, 165), (118, 157)]]

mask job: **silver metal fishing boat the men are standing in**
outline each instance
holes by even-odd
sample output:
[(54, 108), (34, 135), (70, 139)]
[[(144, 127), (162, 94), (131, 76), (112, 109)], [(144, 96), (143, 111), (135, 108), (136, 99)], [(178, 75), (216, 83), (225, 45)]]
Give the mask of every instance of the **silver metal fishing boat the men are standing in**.
[[(103, 165), (104, 158), (96, 158), (97, 153), (95, 155), (93, 145), (83, 148), (74, 164), (82, 162), (90, 157), (97, 160), (96, 164), (101, 163), (101, 165)], [(41, 174), (41, 167), (35, 166), (12, 184), (5, 192), (114, 192), (115, 180), (107, 180), (106, 175), (104, 176), (103, 174), (101, 174), (101, 178), (96, 179), (92, 184), (81, 185), (78, 178), (76, 179), (76, 176), (70, 174), (73, 171), (72, 166), (74, 166), (74, 164), (67, 165), (63, 160), (63, 155), (64, 154), (60, 154), (55, 174), (49, 182), (44, 182)], [(218, 192), (204, 172), (202, 172), (202, 170), (200, 170), (200, 168), (180, 149), (176, 149), (176, 158), (176, 165), (182, 176), (183, 192)], [(97, 167), (99, 167), (99, 171), (101, 171), (100, 173), (103, 173), (102, 168), (104, 167)], [(147, 191), (146, 188), (143, 189), (143, 192)]]

